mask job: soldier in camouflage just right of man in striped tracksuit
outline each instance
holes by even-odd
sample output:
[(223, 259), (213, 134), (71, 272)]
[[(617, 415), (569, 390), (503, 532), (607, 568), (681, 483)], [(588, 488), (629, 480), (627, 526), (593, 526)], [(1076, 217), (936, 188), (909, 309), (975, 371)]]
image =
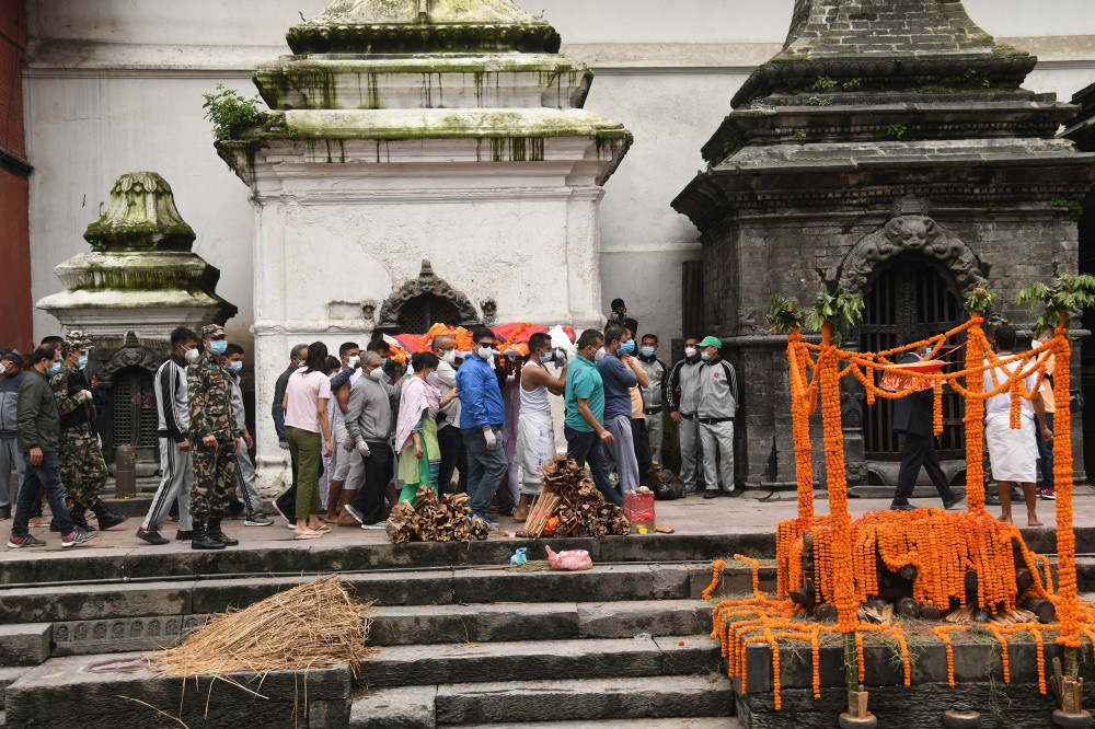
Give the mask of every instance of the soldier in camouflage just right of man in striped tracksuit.
[(235, 450), (240, 430), (232, 415), (232, 380), (224, 367), (228, 348), (224, 329), (217, 324), (201, 327), (201, 356), (186, 368), (186, 398), (191, 414), (191, 449), (194, 454), (194, 487), (191, 517), (194, 549), (223, 549), (239, 544), (220, 530), (228, 498), (235, 493)]

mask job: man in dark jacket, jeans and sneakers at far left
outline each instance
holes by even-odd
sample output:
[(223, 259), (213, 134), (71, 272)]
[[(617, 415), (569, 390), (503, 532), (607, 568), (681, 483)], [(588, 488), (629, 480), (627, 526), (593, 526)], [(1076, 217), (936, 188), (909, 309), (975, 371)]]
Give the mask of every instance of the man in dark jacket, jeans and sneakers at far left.
[(8, 546), (12, 548), (43, 546), (44, 540), (31, 534), (28, 521), (34, 502), (43, 491), (49, 510), (61, 531), (61, 547), (80, 545), (99, 532), (89, 532), (72, 523), (65, 507), (57, 451), (60, 448), (60, 413), (54, 398), (49, 378), (60, 372), (60, 352), (51, 345), (38, 347), (31, 355), (31, 371), (19, 389), (16, 430), (20, 454), (23, 456), (24, 481), (19, 485), (19, 502), (11, 526)]

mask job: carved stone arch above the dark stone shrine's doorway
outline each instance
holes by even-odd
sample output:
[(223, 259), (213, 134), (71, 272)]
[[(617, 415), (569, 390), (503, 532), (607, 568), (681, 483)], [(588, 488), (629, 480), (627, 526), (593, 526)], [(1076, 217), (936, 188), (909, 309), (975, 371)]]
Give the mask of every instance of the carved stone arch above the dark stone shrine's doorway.
[(898, 216), (856, 243), (841, 264), (840, 288), (862, 297), (879, 264), (904, 253), (921, 253), (946, 264), (963, 297), (984, 278), (965, 243), (925, 216)]

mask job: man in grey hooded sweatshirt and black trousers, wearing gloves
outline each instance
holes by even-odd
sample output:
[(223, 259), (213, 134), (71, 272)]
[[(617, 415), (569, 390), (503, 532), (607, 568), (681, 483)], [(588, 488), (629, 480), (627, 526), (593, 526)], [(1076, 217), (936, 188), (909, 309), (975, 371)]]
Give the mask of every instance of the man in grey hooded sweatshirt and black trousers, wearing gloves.
[(392, 438), (394, 389), (385, 382), (382, 358), (376, 351), (361, 352), (361, 374), (350, 389), (346, 431), (354, 440), (365, 482), (346, 504), (361, 529), (384, 528), (384, 493), (392, 481), (395, 456)]

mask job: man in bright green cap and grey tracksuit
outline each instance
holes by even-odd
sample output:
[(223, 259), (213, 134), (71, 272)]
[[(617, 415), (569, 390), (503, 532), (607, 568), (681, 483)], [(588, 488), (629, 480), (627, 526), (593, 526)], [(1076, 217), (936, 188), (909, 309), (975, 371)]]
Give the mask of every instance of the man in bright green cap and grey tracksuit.
[(738, 412), (738, 378), (734, 367), (719, 357), (723, 342), (704, 337), (698, 349), (703, 362), (698, 369), (700, 398), (696, 423), (703, 445), (703, 481), (707, 486), (704, 498), (722, 493), (737, 496), (734, 488), (734, 417)]

